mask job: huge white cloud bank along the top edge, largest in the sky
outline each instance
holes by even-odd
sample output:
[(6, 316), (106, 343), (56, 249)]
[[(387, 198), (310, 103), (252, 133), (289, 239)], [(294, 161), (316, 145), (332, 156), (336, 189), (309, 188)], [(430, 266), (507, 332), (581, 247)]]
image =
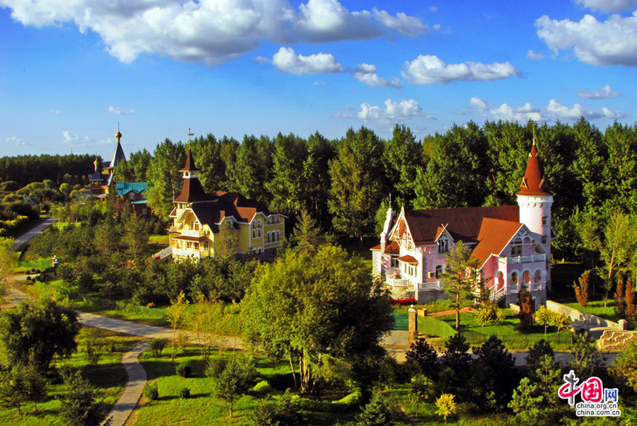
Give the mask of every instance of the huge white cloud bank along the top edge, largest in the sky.
[(209, 67), (251, 52), (261, 40), (278, 44), (365, 40), (386, 33), (416, 35), (418, 18), (349, 11), (337, 0), (0, 0), (13, 21), (42, 27), (73, 23), (98, 34), (121, 62), (159, 54)]

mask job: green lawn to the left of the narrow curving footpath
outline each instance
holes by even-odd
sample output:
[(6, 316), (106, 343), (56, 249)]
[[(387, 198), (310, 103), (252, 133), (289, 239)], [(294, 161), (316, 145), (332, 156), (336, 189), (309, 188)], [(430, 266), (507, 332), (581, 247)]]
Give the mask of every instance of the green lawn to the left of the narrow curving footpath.
[[(114, 345), (114, 351), (105, 352), (95, 366), (88, 365), (86, 357), (86, 341), (91, 335), (98, 336), (99, 341), (106, 345), (111, 342)], [(121, 364), (122, 355), (134, 347), (139, 342), (139, 338), (84, 327), (81, 328), (77, 341), (78, 351), (69, 359), (52, 362), (52, 366), (59, 368), (67, 364), (81, 369), (86, 379), (98, 388), (98, 401), (102, 401), (105, 409), (110, 410), (124, 391), (127, 381), (125, 369)], [(38, 403), (38, 410), (35, 410), (33, 403), (25, 403), (21, 407), (23, 415), (19, 416), (16, 408), (0, 408), (0, 425), (66, 425), (67, 423), (59, 417), (61, 402), (56, 398), (66, 389), (59, 380), (59, 376), (57, 377), (58, 379), (50, 379), (47, 384), (47, 398), (42, 403)]]

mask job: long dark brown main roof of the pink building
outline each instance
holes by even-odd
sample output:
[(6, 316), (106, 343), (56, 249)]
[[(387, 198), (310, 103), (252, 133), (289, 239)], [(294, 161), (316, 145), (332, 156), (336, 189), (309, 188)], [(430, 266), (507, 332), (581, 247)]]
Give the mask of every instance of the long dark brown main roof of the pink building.
[(405, 210), (405, 219), (416, 245), (434, 244), (442, 225), (454, 241), (475, 243), (484, 218), (518, 222), (520, 207), (459, 207), (455, 209)]

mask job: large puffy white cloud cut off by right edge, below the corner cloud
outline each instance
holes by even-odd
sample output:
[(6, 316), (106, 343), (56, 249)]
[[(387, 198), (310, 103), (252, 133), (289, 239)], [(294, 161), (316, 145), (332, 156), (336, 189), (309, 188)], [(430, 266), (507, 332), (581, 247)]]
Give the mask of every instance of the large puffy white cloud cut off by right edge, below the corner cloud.
[(573, 50), (580, 61), (592, 65), (637, 66), (637, 11), (632, 16), (609, 16), (597, 21), (592, 15), (579, 22), (542, 16), (535, 21), (537, 35), (557, 55)]

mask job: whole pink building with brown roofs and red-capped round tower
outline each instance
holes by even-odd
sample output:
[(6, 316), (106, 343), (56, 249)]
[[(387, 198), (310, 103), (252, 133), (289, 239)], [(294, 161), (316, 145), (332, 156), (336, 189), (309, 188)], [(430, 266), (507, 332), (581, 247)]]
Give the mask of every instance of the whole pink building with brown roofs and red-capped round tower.
[(491, 298), (517, 303), (526, 287), (535, 305), (551, 288), (551, 205), (553, 195), (541, 172), (535, 141), (517, 193), (517, 206), (387, 211), (381, 243), (372, 248), (375, 275), (393, 297), (420, 303), (445, 299), (440, 278), (447, 253), (463, 241), (478, 259)]

